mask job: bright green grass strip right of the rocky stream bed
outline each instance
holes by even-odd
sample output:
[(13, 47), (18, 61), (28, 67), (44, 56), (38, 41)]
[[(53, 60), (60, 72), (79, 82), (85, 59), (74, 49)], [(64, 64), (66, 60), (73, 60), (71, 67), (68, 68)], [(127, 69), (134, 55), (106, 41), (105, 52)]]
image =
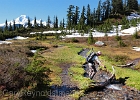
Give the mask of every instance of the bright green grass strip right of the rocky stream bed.
[(136, 88), (140, 90), (140, 72), (137, 70), (132, 70), (130, 68), (121, 68), (116, 67), (115, 65), (119, 62), (109, 61), (107, 60), (106, 56), (101, 57), (101, 59), (104, 61), (104, 64), (107, 67), (108, 71), (112, 71), (112, 66), (115, 68), (115, 76), (117, 79), (128, 77), (128, 79), (125, 80), (125, 84), (127, 86)]

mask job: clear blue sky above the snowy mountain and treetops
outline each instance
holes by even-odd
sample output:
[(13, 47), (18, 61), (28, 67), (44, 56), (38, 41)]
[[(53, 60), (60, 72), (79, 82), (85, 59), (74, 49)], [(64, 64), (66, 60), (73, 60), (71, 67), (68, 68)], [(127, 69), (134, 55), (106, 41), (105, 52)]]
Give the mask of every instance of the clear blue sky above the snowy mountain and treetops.
[(6, 19), (11, 21), (20, 15), (44, 21), (48, 15), (52, 21), (54, 16), (57, 16), (59, 21), (63, 18), (66, 21), (69, 5), (78, 6), (81, 11), (83, 6), (87, 7), (90, 4), (93, 10), (97, 8), (98, 2), (99, 0), (0, 0), (0, 24), (5, 23)]

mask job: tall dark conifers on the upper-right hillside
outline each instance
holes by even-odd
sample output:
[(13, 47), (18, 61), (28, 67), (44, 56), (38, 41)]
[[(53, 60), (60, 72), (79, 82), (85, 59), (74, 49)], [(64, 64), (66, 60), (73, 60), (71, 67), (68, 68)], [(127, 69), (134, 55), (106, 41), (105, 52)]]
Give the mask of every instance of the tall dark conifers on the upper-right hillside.
[(110, 17), (119, 18), (119, 15), (128, 15), (134, 11), (139, 11), (137, 0), (99, 0), (97, 9), (91, 10), (88, 4), (87, 9), (83, 6), (81, 14), (78, 6), (70, 5), (67, 11), (67, 28), (94, 28)]

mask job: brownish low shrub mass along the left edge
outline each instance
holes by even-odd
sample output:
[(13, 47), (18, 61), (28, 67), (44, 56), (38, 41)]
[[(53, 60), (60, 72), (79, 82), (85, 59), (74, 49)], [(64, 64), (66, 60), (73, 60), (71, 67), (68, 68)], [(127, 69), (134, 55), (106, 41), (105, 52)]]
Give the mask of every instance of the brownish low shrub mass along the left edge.
[(29, 63), (26, 52), (20, 48), (0, 49), (0, 85), (10, 91), (19, 90), (24, 86), (26, 77), (24, 67)]

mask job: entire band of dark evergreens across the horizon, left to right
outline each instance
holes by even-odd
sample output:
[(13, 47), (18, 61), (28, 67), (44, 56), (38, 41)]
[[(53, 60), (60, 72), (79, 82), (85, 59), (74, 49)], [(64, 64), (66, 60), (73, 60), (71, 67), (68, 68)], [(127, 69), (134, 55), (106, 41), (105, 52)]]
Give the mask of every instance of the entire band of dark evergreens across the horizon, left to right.
[[(90, 4), (88, 4), (87, 7), (82, 7), (81, 12), (79, 9), (78, 6), (69, 5), (66, 22), (63, 18), (59, 23), (57, 16), (54, 16), (54, 20), (51, 21), (50, 16), (48, 16), (46, 26), (42, 24), (42, 20), (38, 24), (36, 17), (34, 18), (33, 25), (30, 22), (30, 18), (28, 18), (26, 28), (20, 24), (16, 25), (15, 20), (13, 20), (13, 25), (11, 23), (8, 25), (6, 20), (4, 30), (0, 29), (0, 39), (4, 40), (7, 37), (13, 37), (17, 33), (63, 30), (64, 28), (68, 30), (80, 30), (83, 33), (87, 33), (90, 29), (95, 28), (99, 31), (107, 32), (112, 29), (112, 24), (123, 24), (123, 28), (128, 28), (130, 27), (128, 25), (129, 22), (125, 17), (131, 12), (139, 12), (140, 5), (138, 4), (138, 0), (105, 0), (104, 2), (99, 0), (97, 8), (91, 9)], [(115, 18), (115, 20), (112, 21), (111, 18)], [(121, 21), (118, 21), (118, 19), (121, 19)], [(53, 27), (50, 24), (53, 24)]]

